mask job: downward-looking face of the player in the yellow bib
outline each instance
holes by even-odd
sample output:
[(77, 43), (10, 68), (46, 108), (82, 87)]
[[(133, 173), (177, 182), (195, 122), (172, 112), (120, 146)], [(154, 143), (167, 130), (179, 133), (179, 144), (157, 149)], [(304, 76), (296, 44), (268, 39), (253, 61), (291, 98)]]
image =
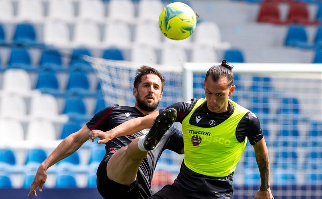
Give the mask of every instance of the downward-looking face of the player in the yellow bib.
[(229, 96), (235, 91), (235, 86), (229, 85), (227, 78), (220, 78), (217, 82), (212, 77), (204, 80), (204, 91), (207, 99), (207, 107), (213, 113), (227, 111)]

